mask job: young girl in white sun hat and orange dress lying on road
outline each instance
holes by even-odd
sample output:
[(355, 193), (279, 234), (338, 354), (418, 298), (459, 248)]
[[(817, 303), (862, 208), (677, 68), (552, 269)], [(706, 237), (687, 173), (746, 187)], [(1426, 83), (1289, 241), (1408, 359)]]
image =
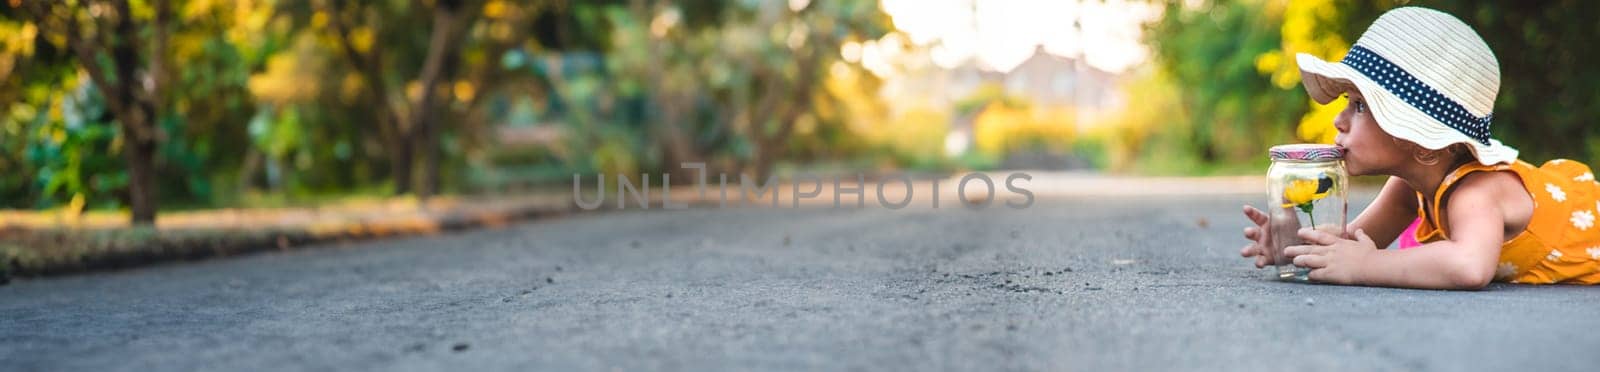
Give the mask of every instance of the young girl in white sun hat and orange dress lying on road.
[[(1541, 167), (1490, 140), (1499, 63), (1454, 16), (1384, 13), (1339, 63), (1296, 56), (1306, 91), (1349, 103), (1334, 127), (1350, 175), (1387, 175), (1378, 199), (1342, 236), (1299, 229), (1283, 250), (1310, 279), (1413, 289), (1482, 289), (1490, 281), (1600, 284), (1600, 183), (1579, 162)], [(1240, 255), (1270, 265), (1267, 215)], [(1379, 250), (1413, 220), (1419, 247)]]

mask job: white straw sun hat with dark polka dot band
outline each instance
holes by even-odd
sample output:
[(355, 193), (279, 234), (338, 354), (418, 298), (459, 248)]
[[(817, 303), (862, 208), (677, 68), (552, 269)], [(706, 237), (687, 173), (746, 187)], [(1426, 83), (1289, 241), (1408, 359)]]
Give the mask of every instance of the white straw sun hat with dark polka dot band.
[(1306, 93), (1326, 104), (1354, 85), (1378, 127), (1429, 149), (1466, 143), (1480, 164), (1517, 159), (1490, 138), (1499, 61), (1467, 24), (1443, 11), (1395, 8), (1373, 22), (1339, 63), (1299, 53)]

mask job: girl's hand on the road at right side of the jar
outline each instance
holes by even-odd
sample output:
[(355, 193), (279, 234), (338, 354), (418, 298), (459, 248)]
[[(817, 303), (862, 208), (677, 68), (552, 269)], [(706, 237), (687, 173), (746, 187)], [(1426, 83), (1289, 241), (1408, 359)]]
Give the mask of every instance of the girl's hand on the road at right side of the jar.
[(1326, 231), (1299, 229), (1299, 237), (1306, 239), (1309, 245), (1291, 245), (1283, 249), (1283, 253), (1294, 260), (1294, 266), (1310, 268), (1310, 281), (1360, 284), (1358, 273), (1366, 258), (1378, 252), (1378, 244), (1362, 229), (1352, 236), (1355, 241)]

